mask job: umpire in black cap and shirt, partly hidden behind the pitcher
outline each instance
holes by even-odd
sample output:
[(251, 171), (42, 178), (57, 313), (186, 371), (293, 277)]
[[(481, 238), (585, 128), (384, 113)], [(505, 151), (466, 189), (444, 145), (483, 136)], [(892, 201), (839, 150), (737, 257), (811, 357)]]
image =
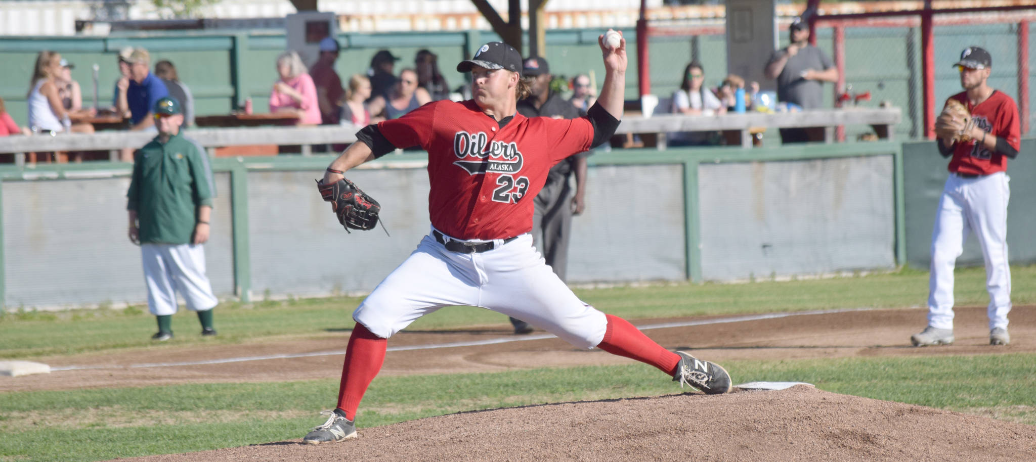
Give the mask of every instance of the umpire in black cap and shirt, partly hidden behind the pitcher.
[[(518, 113), (525, 117), (553, 117), (574, 119), (582, 114), (572, 103), (550, 90), (550, 66), (539, 56), (525, 59), (522, 77), (529, 84), (529, 96), (518, 102)], [(543, 191), (536, 197), (536, 211), (533, 214), (533, 244), (543, 254), (543, 258), (564, 282), (568, 267), (569, 237), (572, 233), (572, 216), (582, 213), (586, 194), (586, 156), (593, 151), (581, 152), (557, 163), (547, 174)], [(573, 195), (569, 176), (575, 173), (576, 186)], [(511, 318), (515, 334), (528, 334), (533, 326)]]

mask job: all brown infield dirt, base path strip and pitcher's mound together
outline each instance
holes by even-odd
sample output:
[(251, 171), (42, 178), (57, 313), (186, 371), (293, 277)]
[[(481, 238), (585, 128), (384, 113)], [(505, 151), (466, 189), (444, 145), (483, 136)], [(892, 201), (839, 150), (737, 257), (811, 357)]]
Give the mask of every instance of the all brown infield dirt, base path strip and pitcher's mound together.
[[(696, 356), (721, 364), (729, 359), (1036, 351), (1036, 307), (1015, 307), (1011, 313), (1012, 343), (1003, 347), (988, 345), (984, 308), (958, 309), (956, 343), (926, 348), (911, 347), (909, 340), (924, 326), (924, 310), (861, 310), (760, 320), (731, 318), (737, 317), (695, 318), (693, 321), (699, 325), (656, 327), (646, 333), (667, 348), (693, 349)], [(688, 320), (639, 320), (635, 324), (682, 321)], [(533, 337), (512, 336), (509, 327), (501, 323), (463, 331), (401, 333), (390, 341), (382, 374), (492, 372), (630, 362), (598, 350), (576, 350), (554, 338), (538, 338), (539, 331)], [(0, 392), (338, 377), (347, 336), (328, 333), (326, 338), (305, 341), (204, 348), (156, 346), (115, 354), (40, 358), (53, 368), (74, 369), (0, 379)], [(444, 345), (480, 341), (499, 343)], [(419, 349), (393, 351), (402, 347)], [(275, 354), (310, 355), (258, 357)], [(228, 358), (237, 359), (195, 364)], [(731, 375), (735, 383), (740, 383), (737, 371)], [(719, 397), (669, 395), (462, 412), (364, 428), (358, 439), (337, 444), (311, 446), (293, 440), (128, 460), (981, 461), (1026, 460), (1032, 447), (1036, 447), (1033, 426), (800, 386)]]

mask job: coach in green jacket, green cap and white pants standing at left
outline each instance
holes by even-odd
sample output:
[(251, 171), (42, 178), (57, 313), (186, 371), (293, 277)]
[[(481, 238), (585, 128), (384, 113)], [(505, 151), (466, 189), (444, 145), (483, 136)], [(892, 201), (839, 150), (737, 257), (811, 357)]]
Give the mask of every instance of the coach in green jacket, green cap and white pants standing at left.
[(147, 305), (157, 317), (151, 338), (173, 338), (176, 292), (198, 313), (202, 336), (214, 336), (212, 308), (218, 305), (205, 276), (205, 250), (215, 186), (205, 150), (180, 133), (183, 114), (175, 98), (153, 108), (159, 136), (134, 155), (126, 194), (130, 240), (140, 244)]

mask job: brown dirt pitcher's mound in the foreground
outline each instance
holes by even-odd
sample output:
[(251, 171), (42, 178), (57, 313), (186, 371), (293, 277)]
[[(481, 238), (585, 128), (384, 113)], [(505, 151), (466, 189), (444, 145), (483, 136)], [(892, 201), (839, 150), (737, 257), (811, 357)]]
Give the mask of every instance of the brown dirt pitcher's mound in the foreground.
[(359, 438), (339, 443), (298, 439), (133, 460), (1016, 461), (1036, 447), (1033, 426), (807, 385), (543, 404), (378, 428), (362, 420)]

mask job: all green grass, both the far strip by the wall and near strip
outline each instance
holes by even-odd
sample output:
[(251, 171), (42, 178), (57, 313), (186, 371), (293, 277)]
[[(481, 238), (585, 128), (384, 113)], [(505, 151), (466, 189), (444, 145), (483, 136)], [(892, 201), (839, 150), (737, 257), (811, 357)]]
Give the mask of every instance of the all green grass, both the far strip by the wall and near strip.
[[(1013, 300), (1036, 304), (1036, 267), (1014, 267)], [(984, 271), (957, 271), (959, 305), (985, 305)], [(577, 290), (603, 311), (630, 319), (923, 305), (927, 273), (749, 284), (668, 284)], [(191, 313), (174, 316), (173, 344), (229, 344), (338, 336), (352, 326), (358, 298), (224, 304), (218, 338), (198, 336)], [(153, 317), (140, 307), (0, 315), (7, 358), (167, 348), (153, 345)], [(500, 315), (451, 308), (411, 328), (507, 328)], [(344, 346), (344, 343), (343, 343)], [(861, 397), (932, 406), (1036, 425), (1031, 384), (1036, 354), (850, 357), (724, 363), (736, 382), (805, 381)], [(962, 372), (966, 371), (966, 372)], [(323, 422), (338, 378), (277, 383), (182, 384), (0, 394), (0, 462), (93, 461), (294, 439)], [(654, 368), (538, 369), (482, 374), (378, 377), (357, 418), (365, 427), (473, 409), (679, 393)]]

